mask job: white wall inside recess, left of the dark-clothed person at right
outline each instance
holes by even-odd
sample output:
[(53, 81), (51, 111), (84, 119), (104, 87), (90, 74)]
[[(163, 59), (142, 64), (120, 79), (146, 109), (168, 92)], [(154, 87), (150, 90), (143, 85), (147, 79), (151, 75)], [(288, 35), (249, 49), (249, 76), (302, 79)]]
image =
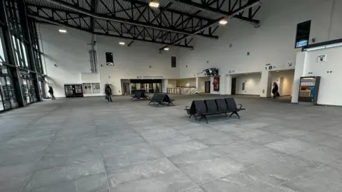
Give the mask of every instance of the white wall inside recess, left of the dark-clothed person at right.
[[(239, 75), (237, 77), (236, 94), (241, 95), (260, 95), (260, 73), (252, 73), (246, 75)], [(244, 90), (242, 90), (242, 82), (244, 82)]]

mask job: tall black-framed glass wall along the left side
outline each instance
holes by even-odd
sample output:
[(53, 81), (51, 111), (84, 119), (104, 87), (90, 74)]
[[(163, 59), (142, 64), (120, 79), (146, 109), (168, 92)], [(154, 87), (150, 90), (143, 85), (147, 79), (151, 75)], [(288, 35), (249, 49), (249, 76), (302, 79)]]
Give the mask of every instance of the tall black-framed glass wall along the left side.
[(43, 63), (24, 0), (0, 1), (0, 112), (41, 100)]

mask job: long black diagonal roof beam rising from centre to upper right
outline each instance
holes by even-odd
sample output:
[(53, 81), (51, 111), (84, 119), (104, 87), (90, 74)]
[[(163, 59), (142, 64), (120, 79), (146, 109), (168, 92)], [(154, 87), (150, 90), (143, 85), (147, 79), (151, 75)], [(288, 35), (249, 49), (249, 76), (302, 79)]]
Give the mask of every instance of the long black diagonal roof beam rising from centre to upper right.
[[(172, 2), (177, 3), (177, 2), (179, 2), (180, 0), (178, 0), (178, 1), (177, 1), (177, 0), (169, 0), (169, 1), (172, 1)], [(199, 28), (199, 30), (195, 31), (195, 32), (194, 32), (192, 35), (190, 35), (190, 36), (194, 36), (194, 35), (196, 35), (197, 33), (200, 33), (201, 31), (203, 31), (204, 29), (209, 28), (210, 26), (213, 26), (215, 23), (221, 21), (223, 18), (232, 18), (233, 16), (235, 16), (235, 15), (241, 13), (241, 12), (244, 11), (245, 9), (249, 9), (249, 8), (251, 8), (251, 7), (253, 7), (253, 6), (259, 4), (260, 1), (261, 1), (261, 0), (249, 1), (249, 2), (247, 2), (247, 4), (244, 4), (244, 6), (240, 6), (238, 9), (235, 9), (234, 11), (232, 11), (231, 13), (229, 13), (228, 15), (225, 15), (225, 16), (223, 16), (222, 18), (219, 18), (219, 19), (217, 19), (216, 21), (214, 21), (214, 22), (212, 22), (212, 23), (209, 23), (207, 26), (204, 26), (204, 27), (202, 27), (202, 28)], [(182, 4), (187, 4), (187, 3), (184, 3), (184, 2), (181, 2), (181, 3), (182, 3)], [(185, 36), (185, 37), (183, 37), (183, 38), (180, 38), (180, 39), (178, 39), (177, 41), (170, 43), (169, 46), (175, 46), (177, 43), (179, 43), (179, 42), (181, 42), (181, 41), (187, 39), (188, 37), (189, 37), (189, 36)], [(168, 47), (168, 46), (164, 46), (164, 47), (160, 48), (159, 50), (162, 51), (162, 50), (164, 50), (164, 48), (166, 48), (166, 47)]]

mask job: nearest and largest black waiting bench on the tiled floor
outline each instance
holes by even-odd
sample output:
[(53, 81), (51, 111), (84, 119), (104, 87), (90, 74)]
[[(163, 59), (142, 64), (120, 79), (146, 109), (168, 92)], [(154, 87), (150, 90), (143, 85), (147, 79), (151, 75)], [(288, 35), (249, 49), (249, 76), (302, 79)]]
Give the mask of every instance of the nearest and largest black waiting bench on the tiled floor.
[(236, 114), (237, 117), (240, 116), (238, 114), (241, 110), (246, 110), (242, 108), (241, 104), (239, 108), (237, 107), (237, 103), (234, 98), (226, 98), (226, 99), (217, 99), (217, 100), (194, 100), (192, 101), (191, 107), (185, 107), (187, 114), (189, 114), (189, 118), (194, 116), (197, 120), (197, 117), (201, 119), (206, 119), (208, 123), (207, 116), (212, 114), (226, 114), (231, 113), (229, 117), (232, 117), (233, 114)]

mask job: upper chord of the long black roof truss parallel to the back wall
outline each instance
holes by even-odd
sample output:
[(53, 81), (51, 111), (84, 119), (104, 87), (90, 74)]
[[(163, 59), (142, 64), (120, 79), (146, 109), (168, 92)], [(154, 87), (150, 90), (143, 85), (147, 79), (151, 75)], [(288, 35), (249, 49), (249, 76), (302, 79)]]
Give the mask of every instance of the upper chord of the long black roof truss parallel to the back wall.
[[(167, 28), (167, 27), (164, 27), (164, 26), (157, 26), (155, 24), (149, 24), (149, 23), (144, 23), (144, 22), (140, 22), (140, 21), (133, 21), (131, 19), (118, 18), (118, 17), (110, 17), (110, 16), (106, 16), (106, 15), (103, 15), (103, 14), (94, 14), (91, 11), (88, 11), (86, 9), (82, 9), (81, 7), (73, 6), (73, 5), (65, 3), (63, 1), (58, 1), (58, 0), (45, 0), (45, 1), (51, 2), (51, 3), (56, 4), (58, 6), (63, 6), (66, 9), (70, 9), (70, 10), (76, 11), (76, 12), (78, 12), (80, 14), (84, 14), (84, 15), (87, 15), (87, 16), (91, 16), (91, 17), (94, 17), (94, 18), (99, 18), (99, 19), (103, 19), (103, 20), (107, 20), (107, 21), (115, 21), (115, 22), (118, 22), (118, 23), (128, 23), (128, 24), (133, 25), (133, 26), (142, 26), (142, 27), (147, 27), (147, 28), (155, 28), (155, 29), (158, 29), (158, 30), (161, 30), (161, 31), (170, 31), (170, 32), (173, 32), (173, 33), (181, 33), (181, 34), (184, 34), (184, 35), (187, 35), (187, 36), (190, 36), (190, 35), (193, 34), (192, 32), (188, 32), (188, 31), (181, 31), (181, 30), (177, 30), (175, 28)], [(204, 36), (204, 37), (207, 37), (207, 38), (215, 38), (215, 39), (218, 38), (217, 36), (209, 36), (209, 35), (206, 35), (206, 34), (199, 34), (199, 36)]]

